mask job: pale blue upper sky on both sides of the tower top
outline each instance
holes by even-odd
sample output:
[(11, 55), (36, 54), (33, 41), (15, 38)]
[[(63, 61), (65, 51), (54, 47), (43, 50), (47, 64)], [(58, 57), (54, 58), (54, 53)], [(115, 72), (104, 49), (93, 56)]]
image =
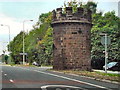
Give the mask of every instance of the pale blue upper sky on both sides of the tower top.
[[(64, 0), (40, 0), (39, 2), (17, 2), (17, 0), (13, 1), (0, 2), (0, 13), (3, 13), (9, 17), (17, 18), (18, 21), (24, 19), (36, 20), (41, 13), (52, 11), (57, 7), (61, 7), (64, 3)], [(118, 6), (116, 5), (117, 2), (99, 2), (98, 10), (102, 10), (103, 12), (116, 10), (117, 13)]]

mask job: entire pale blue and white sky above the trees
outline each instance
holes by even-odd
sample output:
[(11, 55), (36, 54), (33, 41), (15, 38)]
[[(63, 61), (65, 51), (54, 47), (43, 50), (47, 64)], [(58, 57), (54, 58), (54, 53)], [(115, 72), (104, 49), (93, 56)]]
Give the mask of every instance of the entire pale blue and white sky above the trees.
[[(71, 0), (0, 0), (0, 55), (7, 49), (6, 45), (23, 30), (32, 30), (32, 26), (38, 21), (39, 15), (47, 13), (63, 6), (64, 2)], [(86, 2), (88, 0), (78, 0)], [(98, 11), (108, 12), (114, 10), (118, 15), (119, 0), (89, 0), (98, 3)], [(113, 2), (114, 1), (114, 2)], [(29, 20), (33, 20), (30, 22)], [(1, 26), (3, 24), (3, 26)]]

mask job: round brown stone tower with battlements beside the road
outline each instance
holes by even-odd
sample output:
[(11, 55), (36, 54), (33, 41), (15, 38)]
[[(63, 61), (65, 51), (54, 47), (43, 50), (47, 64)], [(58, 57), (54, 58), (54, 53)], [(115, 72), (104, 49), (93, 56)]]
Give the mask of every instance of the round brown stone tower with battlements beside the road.
[(57, 70), (77, 69), (91, 70), (90, 58), (90, 30), (91, 11), (77, 8), (72, 12), (72, 7), (53, 11), (53, 68)]

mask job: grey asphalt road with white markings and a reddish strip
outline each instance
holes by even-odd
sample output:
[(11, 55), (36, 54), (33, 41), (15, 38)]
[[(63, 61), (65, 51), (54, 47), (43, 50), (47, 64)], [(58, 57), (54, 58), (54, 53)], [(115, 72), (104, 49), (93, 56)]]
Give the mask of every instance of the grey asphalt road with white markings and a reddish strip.
[[(45, 67), (1, 66), (2, 90), (114, 90), (118, 84), (46, 71)], [(24, 88), (24, 89), (23, 89)], [(51, 89), (56, 88), (56, 89)], [(64, 89), (67, 88), (67, 89)], [(72, 89), (70, 89), (72, 88)], [(79, 88), (79, 89), (78, 89)]]

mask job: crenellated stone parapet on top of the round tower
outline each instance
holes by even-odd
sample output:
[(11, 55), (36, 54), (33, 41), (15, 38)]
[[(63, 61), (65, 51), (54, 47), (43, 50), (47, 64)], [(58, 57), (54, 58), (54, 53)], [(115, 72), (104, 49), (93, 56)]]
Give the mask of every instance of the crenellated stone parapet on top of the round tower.
[(56, 11), (53, 10), (53, 23), (59, 21), (59, 22), (65, 22), (65, 21), (80, 21), (80, 22), (86, 22), (91, 23), (91, 10), (86, 10), (81, 7), (77, 8), (77, 11), (73, 13), (72, 7), (66, 7), (65, 13), (63, 13), (62, 8), (57, 8)]

